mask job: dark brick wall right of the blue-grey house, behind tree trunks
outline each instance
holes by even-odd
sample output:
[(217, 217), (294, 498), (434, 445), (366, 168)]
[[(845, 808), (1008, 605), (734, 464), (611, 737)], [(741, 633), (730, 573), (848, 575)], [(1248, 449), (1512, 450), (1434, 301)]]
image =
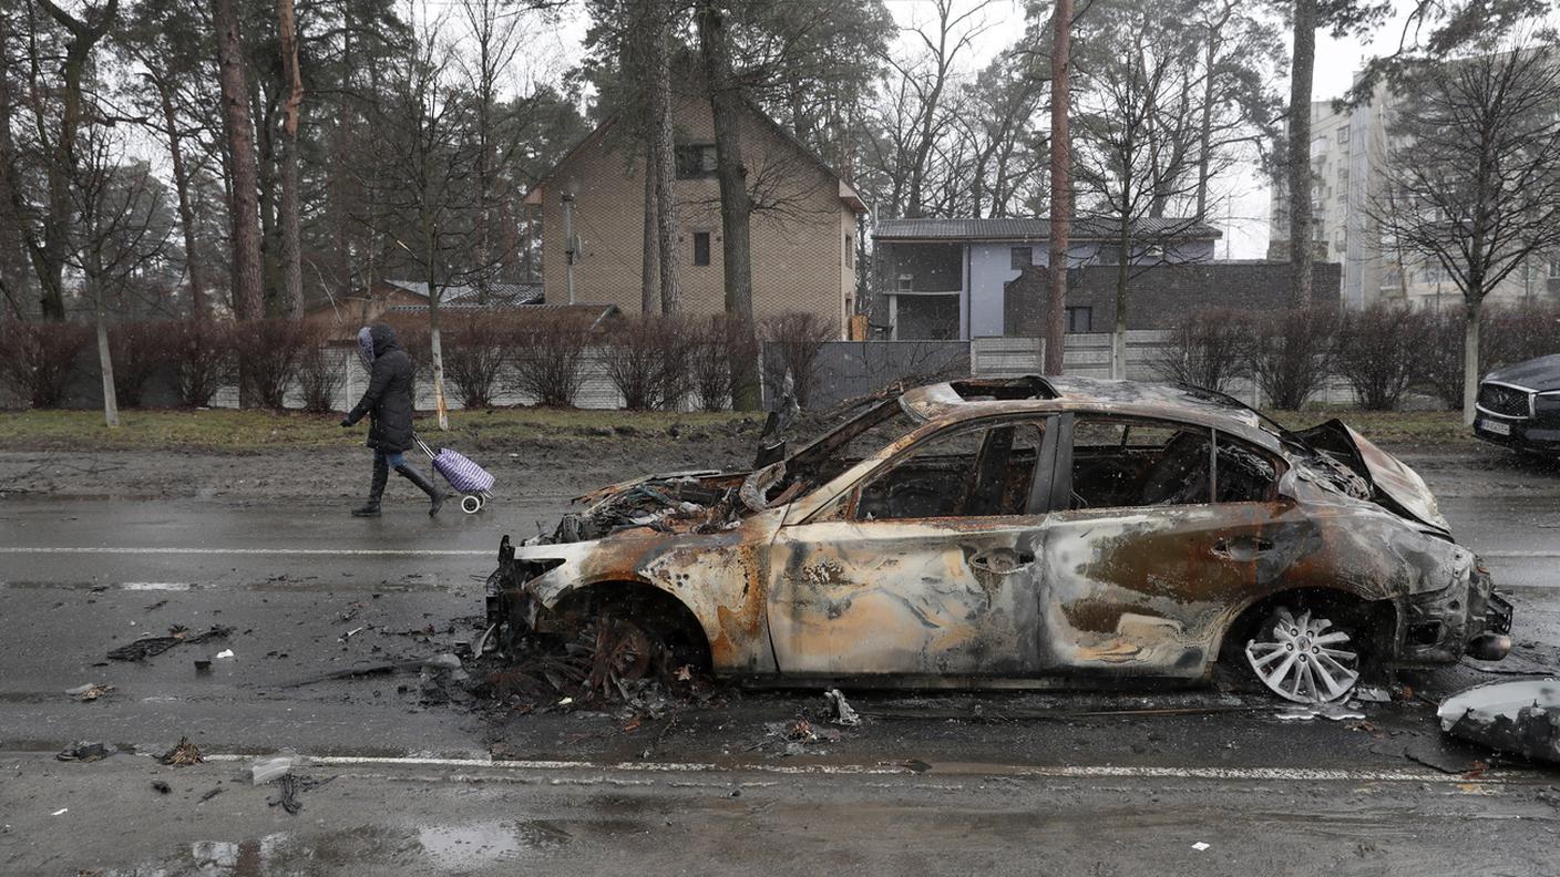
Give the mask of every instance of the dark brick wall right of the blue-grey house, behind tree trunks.
[[(1168, 329), (1187, 311), (1239, 307), (1278, 311), (1290, 306), (1289, 262), (1206, 262), (1148, 268), (1128, 282), (1128, 329)], [(1312, 265), (1315, 301), (1337, 306), (1342, 265)], [(1115, 265), (1089, 265), (1073, 272), (1067, 289), (1069, 307), (1090, 307), (1092, 331), (1109, 332), (1115, 325)], [(1031, 265), (1003, 290), (1006, 336), (1037, 337), (1045, 329), (1047, 268)]]

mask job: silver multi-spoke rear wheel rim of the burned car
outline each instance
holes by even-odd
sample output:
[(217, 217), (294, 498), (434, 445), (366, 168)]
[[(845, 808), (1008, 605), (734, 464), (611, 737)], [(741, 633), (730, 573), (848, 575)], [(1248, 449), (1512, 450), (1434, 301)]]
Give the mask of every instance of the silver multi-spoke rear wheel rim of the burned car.
[(1359, 682), (1359, 652), (1348, 632), (1310, 610), (1296, 618), (1287, 607), (1246, 643), (1253, 673), (1279, 698), (1299, 704), (1329, 704)]

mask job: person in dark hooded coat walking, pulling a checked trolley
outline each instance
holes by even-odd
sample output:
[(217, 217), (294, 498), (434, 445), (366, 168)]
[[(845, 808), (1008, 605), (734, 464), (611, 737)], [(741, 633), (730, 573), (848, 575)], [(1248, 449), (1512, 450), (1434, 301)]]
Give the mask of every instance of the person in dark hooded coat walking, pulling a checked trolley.
[(437, 515), (445, 504), (445, 492), (412, 468), (401, 456), (410, 451), (412, 442), (412, 357), (395, 343), (390, 326), (363, 326), (357, 331), (357, 350), (371, 370), (368, 389), (357, 406), (342, 418), (349, 428), (368, 415), (368, 446), (374, 449), (374, 478), (368, 487), (368, 502), (353, 509), (357, 518), (379, 517), (379, 501), (393, 468), (427, 493), (429, 515)]

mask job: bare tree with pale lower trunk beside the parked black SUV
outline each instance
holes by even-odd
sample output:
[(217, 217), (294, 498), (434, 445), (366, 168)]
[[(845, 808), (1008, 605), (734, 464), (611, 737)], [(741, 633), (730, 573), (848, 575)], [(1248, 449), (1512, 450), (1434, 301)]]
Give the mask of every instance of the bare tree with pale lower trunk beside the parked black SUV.
[(1560, 247), (1560, 56), (1485, 42), (1409, 70), (1392, 119), (1388, 247), (1440, 265), (1463, 298), (1463, 420), (1473, 423), (1484, 298), (1529, 257)]

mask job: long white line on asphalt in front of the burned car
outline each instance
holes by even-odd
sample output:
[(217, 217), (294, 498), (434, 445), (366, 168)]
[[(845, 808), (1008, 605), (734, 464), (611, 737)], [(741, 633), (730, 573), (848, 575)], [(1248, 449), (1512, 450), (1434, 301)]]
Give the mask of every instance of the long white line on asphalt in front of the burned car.
[[(253, 762), (254, 755), (209, 754), (207, 762)], [(785, 774), (785, 776), (914, 776), (916, 771), (894, 763), (880, 765), (714, 765), (705, 762), (565, 762), (541, 758), (434, 758), (434, 757), (388, 757), (388, 755), (318, 755), (300, 757), (306, 765), (360, 768), (360, 766), (406, 766), (406, 768), (459, 768), (459, 769), (502, 769), (502, 771), (619, 771), (638, 774)], [(1515, 771), (1502, 776), (1484, 774), (1468, 777), (1463, 774), (1443, 774), (1438, 771), (1423, 771), (1413, 768), (1402, 769), (1351, 769), (1351, 768), (1151, 768), (1151, 766), (1115, 766), (1115, 765), (1059, 765), (1059, 766), (1019, 766), (1019, 765), (933, 765), (931, 771), (939, 776), (973, 774), (973, 776), (1005, 776), (1034, 779), (1178, 779), (1178, 780), (1248, 780), (1248, 782), (1434, 782), (1434, 783), (1488, 783), (1504, 785), (1507, 777), (1518, 777)]]

